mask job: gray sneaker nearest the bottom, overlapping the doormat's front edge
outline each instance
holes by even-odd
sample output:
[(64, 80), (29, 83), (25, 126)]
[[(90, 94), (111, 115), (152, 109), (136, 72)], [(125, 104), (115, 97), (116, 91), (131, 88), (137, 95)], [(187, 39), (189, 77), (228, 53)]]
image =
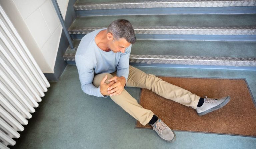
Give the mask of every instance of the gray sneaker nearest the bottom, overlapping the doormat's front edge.
[(176, 140), (175, 133), (161, 119), (158, 118), (156, 123), (151, 126), (161, 139), (170, 143), (173, 143)]

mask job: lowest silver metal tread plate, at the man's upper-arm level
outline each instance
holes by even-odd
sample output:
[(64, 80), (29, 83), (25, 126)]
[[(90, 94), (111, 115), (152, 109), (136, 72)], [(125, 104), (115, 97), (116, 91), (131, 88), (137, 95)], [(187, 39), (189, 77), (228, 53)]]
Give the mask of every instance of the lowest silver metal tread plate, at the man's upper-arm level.
[[(63, 58), (66, 61), (75, 61), (75, 53), (64, 54)], [(256, 58), (130, 55), (130, 63), (256, 67)]]

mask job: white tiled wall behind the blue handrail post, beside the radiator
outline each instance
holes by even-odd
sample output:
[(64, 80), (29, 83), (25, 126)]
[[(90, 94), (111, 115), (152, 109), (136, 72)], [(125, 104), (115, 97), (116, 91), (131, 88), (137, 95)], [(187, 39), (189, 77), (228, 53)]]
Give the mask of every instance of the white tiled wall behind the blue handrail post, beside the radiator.
[[(57, 50), (59, 46), (62, 26), (51, 0), (12, 0), (23, 21), (33, 36), (49, 70), (44, 73), (54, 73)], [(65, 17), (69, 0), (57, 0), (62, 16)], [(35, 57), (37, 60), (37, 58)]]

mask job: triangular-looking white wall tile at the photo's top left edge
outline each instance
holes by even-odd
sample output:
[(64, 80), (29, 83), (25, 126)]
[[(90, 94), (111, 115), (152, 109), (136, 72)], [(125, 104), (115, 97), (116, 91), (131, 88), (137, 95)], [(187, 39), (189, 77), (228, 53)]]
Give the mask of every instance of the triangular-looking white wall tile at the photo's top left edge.
[(12, 0), (25, 20), (46, 0)]

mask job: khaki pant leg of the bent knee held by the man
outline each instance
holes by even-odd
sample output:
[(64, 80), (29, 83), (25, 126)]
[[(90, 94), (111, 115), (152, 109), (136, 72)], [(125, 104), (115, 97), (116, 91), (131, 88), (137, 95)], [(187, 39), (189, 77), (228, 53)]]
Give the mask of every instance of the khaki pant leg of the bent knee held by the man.
[[(93, 79), (93, 84), (96, 87), (99, 87), (100, 81), (106, 75), (108, 75), (107, 80), (113, 77), (113, 75), (109, 73), (95, 75)], [(105, 83), (109, 84), (107, 80)], [(141, 105), (139, 105), (137, 100), (134, 99), (125, 89), (120, 95), (110, 96), (110, 98), (144, 126), (149, 123), (154, 115), (151, 110), (145, 109)]]

